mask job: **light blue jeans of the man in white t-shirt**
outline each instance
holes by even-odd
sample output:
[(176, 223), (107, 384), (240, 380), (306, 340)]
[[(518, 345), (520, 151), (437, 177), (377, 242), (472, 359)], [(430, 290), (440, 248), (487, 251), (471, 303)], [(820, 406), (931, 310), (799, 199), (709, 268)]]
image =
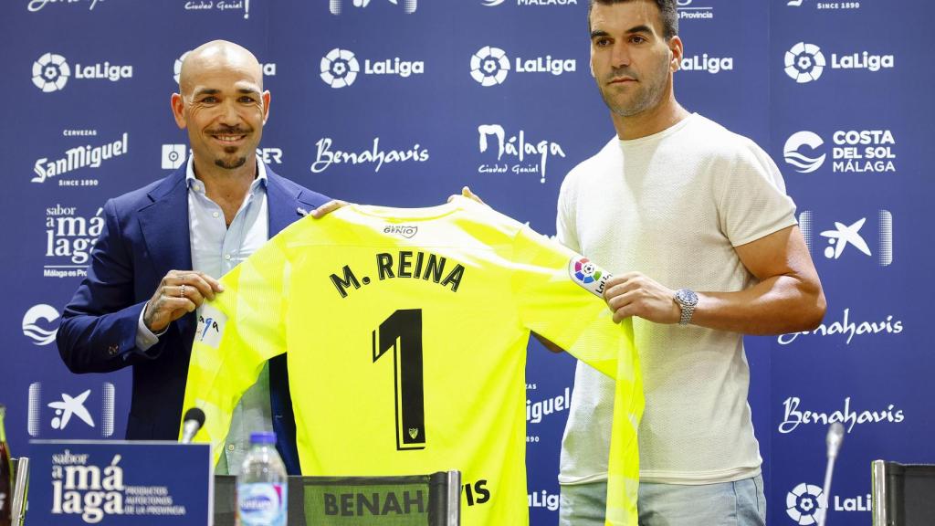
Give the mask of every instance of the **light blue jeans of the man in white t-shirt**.
[[(560, 526), (604, 526), (607, 483), (562, 486)], [(765, 526), (763, 476), (701, 486), (640, 483), (640, 526)]]

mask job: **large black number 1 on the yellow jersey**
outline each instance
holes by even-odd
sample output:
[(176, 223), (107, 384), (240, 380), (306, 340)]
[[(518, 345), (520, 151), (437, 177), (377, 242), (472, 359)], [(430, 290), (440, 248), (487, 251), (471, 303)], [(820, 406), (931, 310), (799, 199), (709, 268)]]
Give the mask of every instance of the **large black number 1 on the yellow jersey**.
[(386, 351), (393, 350), (396, 449), (424, 449), (422, 309), (404, 309), (390, 314), (380, 328), (372, 332), (372, 341), (374, 363)]

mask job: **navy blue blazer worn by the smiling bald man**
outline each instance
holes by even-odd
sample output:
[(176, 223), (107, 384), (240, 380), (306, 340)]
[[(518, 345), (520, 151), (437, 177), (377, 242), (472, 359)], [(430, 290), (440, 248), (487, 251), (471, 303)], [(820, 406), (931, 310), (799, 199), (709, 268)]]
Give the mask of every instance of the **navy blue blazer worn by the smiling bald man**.
[[(266, 167), (269, 235), (328, 200)], [(108, 373), (133, 366), (128, 440), (177, 440), (188, 361), (197, 325), (186, 314), (169, 325), (146, 353), (137, 349), (137, 322), (169, 270), (190, 270), (185, 168), (104, 205), (105, 226), (94, 245), (88, 276), (65, 307), (56, 336), (73, 373)], [(282, 460), (299, 474), (295, 418), (285, 356), (269, 361), (273, 427)]]

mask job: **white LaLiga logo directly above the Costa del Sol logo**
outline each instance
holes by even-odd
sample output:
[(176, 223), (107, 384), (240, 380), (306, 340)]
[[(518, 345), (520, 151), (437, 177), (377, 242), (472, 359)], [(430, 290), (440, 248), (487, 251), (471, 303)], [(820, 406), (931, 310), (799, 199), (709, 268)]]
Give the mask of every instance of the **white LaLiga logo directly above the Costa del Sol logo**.
[(892, 54), (875, 54), (869, 51), (832, 52), (828, 61), (822, 49), (807, 42), (798, 42), (785, 51), (785, 74), (799, 84), (818, 80), (827, 70), (854, 70), (878, 73), (896, 67), (896, 58)]

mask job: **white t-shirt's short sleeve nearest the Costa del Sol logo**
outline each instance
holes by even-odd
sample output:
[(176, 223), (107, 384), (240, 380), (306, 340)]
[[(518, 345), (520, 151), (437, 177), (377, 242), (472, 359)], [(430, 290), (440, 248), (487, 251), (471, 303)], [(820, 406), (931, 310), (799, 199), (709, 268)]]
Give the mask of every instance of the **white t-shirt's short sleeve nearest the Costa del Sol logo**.
[(770, 155), (749, 139), (723, 180), (721, 228), (734, 246), (756, 241), (796, 224), (796, 204), (785, 195), (785, 183)]

